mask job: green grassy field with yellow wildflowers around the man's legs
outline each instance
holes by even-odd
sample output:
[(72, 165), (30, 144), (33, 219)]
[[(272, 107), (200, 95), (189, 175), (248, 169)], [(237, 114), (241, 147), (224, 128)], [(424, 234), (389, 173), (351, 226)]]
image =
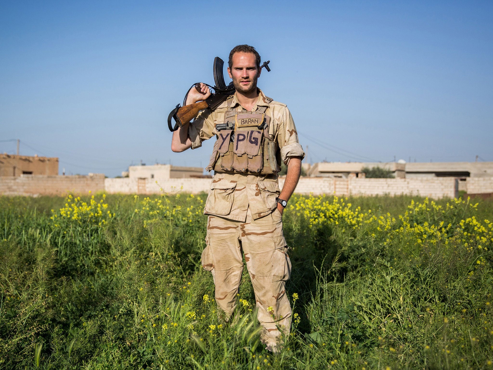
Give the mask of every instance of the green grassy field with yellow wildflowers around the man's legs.
[(246, 270), (218, 319), (205, 198), (0, 197), (0, 369), (493, 369), (492, 201), (292, 198), (274, 356)]

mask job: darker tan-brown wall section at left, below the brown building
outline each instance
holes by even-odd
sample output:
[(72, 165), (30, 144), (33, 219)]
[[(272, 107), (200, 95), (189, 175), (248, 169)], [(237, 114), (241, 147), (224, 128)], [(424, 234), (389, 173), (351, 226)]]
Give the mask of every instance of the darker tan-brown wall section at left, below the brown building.
[(88, 194), (105, 190), (105, 175), (0, 177), (0, 195)]

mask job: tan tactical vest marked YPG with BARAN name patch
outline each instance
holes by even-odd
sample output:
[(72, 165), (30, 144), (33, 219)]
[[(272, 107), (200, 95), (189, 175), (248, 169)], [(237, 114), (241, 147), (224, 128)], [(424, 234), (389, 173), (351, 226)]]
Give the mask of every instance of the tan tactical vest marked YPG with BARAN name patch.
[[(268, 102), (272, 101), (267, 98)], [(254, 112), (236, 111), (228, 99), (224, 122), (216, 124), (217, 141), (206, 170), (269, 175), (281, 170), (281, 153), (267, 107)]]

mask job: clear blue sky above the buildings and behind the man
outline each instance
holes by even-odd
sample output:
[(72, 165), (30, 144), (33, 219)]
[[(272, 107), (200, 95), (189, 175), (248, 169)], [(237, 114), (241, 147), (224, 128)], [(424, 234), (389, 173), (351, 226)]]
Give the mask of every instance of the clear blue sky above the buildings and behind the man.
[(309, 161), (492, 161), (492, 25), (491, 1), (3, 1), (0, 140), (73, 174), (205, 167), (166, 118), (247, 43)]

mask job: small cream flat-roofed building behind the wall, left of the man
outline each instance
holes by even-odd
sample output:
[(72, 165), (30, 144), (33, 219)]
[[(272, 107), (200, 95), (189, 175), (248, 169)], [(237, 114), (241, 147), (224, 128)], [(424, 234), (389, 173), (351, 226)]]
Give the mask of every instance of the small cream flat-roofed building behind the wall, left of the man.
[(204, 169), (201, 167), (179, 167), (170, 164), (153, 164), (150, 166), (130, 166), (128, 172), (122, 173), (123, 177), (131, 179), (183, 179), (203, 178)]

